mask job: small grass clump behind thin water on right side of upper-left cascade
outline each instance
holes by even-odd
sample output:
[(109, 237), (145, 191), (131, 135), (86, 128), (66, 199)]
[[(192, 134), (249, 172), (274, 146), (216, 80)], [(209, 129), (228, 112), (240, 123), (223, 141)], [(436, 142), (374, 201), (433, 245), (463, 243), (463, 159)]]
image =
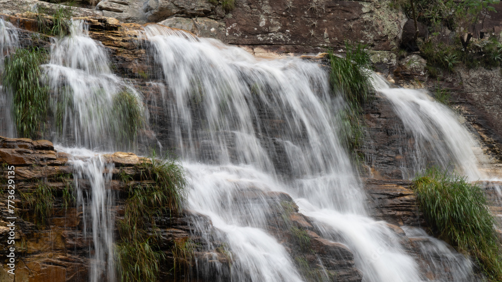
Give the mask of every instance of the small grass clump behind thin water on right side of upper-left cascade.
[(113, 126), (117, 141), (126, 146), (132, 146), (138, 132), (143, 127), (145, 121), (143, 110), (138, 97), (130, 91), (122, 91), (113, 97), (112, 107), (113, 119), (116, 125)]

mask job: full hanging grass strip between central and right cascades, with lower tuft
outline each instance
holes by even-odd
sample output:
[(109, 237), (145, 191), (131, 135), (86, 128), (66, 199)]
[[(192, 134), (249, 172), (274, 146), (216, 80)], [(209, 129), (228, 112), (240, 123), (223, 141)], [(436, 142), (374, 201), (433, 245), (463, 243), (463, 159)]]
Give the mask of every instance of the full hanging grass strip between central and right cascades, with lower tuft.
[[(345, 43), (346, 56), (340, 58), (328, 52), (331, 65), (329, 80), (334, 93), (341, 93), (349, 107), (338, 113), (341, 121), (340, 134), (346, 146), (356, 151), (363, 138), (363, 124), (360, 120), (362, 105), (373, 99), (371, 86), (371, 60), (365, 51), (366, 46)], [(355, 158), (360, 156), (355, 154)]]

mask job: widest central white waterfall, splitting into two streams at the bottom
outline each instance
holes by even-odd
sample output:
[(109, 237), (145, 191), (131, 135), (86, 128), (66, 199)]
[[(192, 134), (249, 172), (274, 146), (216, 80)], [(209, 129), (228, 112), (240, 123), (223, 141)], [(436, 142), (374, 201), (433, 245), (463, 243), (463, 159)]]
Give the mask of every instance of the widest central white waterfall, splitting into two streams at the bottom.
[(267, 203), (234, 202), (249, 187), (297, 197), (322, 235), (351, 248), (364, 281), (421, 280), (397, 235), (365, 215), (364, 193), (337, 136), (344, 103), (330, 95), (324, 70), (294, 58), (256, 59), (157, 25), (145, 29), (164, 93), (174, 96), (163, 100), (191, 176), (188, 205), (223, 233), (235, 280), (245, 280), (244, 273), (254, 281), (302, 279), (284, 247), (263, 231)]

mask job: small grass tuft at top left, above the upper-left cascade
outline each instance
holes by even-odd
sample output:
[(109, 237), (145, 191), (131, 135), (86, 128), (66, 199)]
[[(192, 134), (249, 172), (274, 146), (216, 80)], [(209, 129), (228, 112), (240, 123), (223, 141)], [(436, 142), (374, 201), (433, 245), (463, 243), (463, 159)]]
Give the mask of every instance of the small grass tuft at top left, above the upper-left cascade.
[(69, 6), (58, 5), (57, 9), (37, 7), (38, 30), (49, 36), (64, 37), (69, 35), (72, 17), (73, 11)]

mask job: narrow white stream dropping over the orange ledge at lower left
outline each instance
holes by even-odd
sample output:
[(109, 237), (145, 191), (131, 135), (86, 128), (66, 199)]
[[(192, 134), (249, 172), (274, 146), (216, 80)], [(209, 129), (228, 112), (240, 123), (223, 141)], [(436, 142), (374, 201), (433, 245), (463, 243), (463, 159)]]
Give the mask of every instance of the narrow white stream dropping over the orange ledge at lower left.
[[(74, 193), (77, 209), (82, 209), (84, 239), (91, 233), (92, 246), (89, 280), (91, 282), (115, 281), (113, 256), (113, 230), (115, 218), (112, 207), (115, 205), (113, 191), (109, 189), (113, 163), (105, 163), (100, 154), (87, 149), (58, 148), (72, 157), (68, 162), (72, 167)], [(82, 181), (83, 180), (83, 181)], [(83, 182), (88, 186), (83, 185)], [(90, 216), (90, 217), (89, 217)], [(87, 224), (90, 223), (90, 226)]]

